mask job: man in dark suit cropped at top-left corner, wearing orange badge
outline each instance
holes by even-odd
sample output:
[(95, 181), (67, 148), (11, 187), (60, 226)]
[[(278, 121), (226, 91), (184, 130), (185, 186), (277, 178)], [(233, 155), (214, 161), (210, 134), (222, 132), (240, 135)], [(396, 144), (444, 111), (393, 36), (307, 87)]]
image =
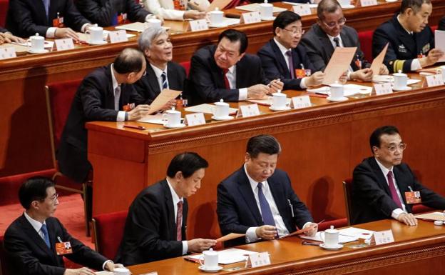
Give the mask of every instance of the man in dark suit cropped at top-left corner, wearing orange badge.
[(35, 34), (48, 38), (79, 40), (76, 31), (86, 31), (90, 21), (76, 9), (73, 0), (10, 0), (6, 28), (14, 35)]

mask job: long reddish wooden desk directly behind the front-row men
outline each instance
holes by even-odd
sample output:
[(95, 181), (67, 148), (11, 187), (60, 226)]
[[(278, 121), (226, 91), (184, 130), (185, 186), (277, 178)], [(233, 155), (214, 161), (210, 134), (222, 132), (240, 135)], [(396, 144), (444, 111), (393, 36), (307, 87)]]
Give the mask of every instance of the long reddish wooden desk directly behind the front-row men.
[[(339, 219), (345, 216), (342, 181), (371, 155), (369, 135), (385, 124), (399, 127), (408, 144), (404, 160), (421, 182), (445, 194), (441, 181), (445, 178), (441, 169), (445, 120), (432, 119), (445, 116), (444, 87), (342, 103), (312, 98), (316, 106), (277, 113), (260, 106), (265, 115), (183, 129), (140, 124), (148, 128), (140, 131), (123, 129), (122, 122), (88, 123), (88, 159), (94, 167), (93, 215), (127, 209), (141, 189), (165, 177), (173, 156), (196, 151), (210, 166), (201, 189), (189, 199), (188, 236), (217, 237), (216, 186), (242, 166), (247, 139), (272, 134), (282, 145), (278, 167), (290, 175), (293, 188), (314, 219)], [(434, 142), (430, 142), (431, 135)]]

